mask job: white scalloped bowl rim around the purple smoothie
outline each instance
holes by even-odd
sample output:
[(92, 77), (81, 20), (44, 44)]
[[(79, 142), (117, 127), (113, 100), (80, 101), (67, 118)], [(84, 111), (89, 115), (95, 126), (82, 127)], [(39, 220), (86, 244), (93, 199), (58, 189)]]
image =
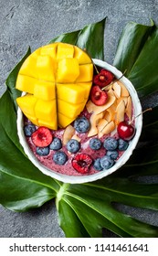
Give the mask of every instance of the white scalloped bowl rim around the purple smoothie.
[[(101, 68), (108, 69), (110, 70), (117, 79), (121, 78), (122, 73), (115, 67), (111, 66), (110, 64), (106, 63), (105, 61), (102, 61), (100, 59), (93, 59), (93, 62), (95, 65), (100, 66)], [(138, 140), (140, 138), (141, 132), (142, 132), (142, 106), (140, 103), (140, 100), (138, 98), (137, 92), (135, 91), (132, 82), (125, 78), (124, 76), (121, 78), (121, 81), (123, 84), (126, 86), (128, 91), (131, 94), (132, 97), (132, 103), (133, 103), (133, 108), (134, 108), (134, 116), (139, 115), (135, 119), (135, 128), (136, 128), (136, 133), (129, 144), (128, 148), (124, 152), (123, 155), (121, 155), (120, 159), (113, 165), (110, 169), (108, 170), (102, 170), (96, 174), (93, 175), (88, 175), (88, 176), (67, 176), (63, 174), (58, 174), (55, 171), (52, 171), (42, 165), (36, 158), (36, 156), (33, 154), (33, 152), (30, 150), (28, 144), (26, 143), (26, 136), (24, 134), (24, 121), (23, 121), (23, 113), (21, 110), (18, 108), (17, 111), (17, 133), (19, 136), (19, 141), (20, 144), (22, 144), (24, 151), (26, 155), (28, 156), (29, 160), (37, 166), (37, 168), (44, 173), (47, 176), (51, 176), (52, 178), (56, 178), (59, 181), (62, 181), (64, 183), (71, 183), (71, 184), (80, 184), (80, 183), (86, 183), (86, 182), (92, 182), (97, 179), (103, 178), (105, 176), (111, 175), (113, 172), (118, 170), (122, 165), (124, 165), (130, 156), (132, 155), (132, 152), (138, 143)]]

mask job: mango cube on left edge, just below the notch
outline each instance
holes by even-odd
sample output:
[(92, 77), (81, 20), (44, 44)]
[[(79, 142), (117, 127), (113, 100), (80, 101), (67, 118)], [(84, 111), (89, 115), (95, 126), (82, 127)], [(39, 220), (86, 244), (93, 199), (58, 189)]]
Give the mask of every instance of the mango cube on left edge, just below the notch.
[(26, 94), (23, 97), (18, 97), (16, 99), (16, 102), (22, 112), (33, 117), (35, 116), (35, 106), (37, 103), (37, 98), (35, 98), (34, 95)]

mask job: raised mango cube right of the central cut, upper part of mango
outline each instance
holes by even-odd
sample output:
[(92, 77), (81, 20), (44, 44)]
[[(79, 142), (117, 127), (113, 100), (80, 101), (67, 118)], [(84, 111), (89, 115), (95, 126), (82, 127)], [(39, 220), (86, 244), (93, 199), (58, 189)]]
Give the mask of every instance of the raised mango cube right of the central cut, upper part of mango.
[(60, 59), (58, 61), (58, 82), (74, 82), (79, 77), (79, 63), (77, 59)]

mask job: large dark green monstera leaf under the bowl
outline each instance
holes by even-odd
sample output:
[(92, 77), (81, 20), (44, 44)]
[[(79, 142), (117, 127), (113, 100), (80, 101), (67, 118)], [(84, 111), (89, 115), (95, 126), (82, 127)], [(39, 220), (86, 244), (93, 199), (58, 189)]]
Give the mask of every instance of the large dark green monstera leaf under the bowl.
[[(92, 58), (103, 59), (105, 21), (63, 34), (51, 42), (75, 44), (86, 48)], [(122, 71), (127, 69), (127, 77), (141, 99), (157, 91), (156, 42), (157, 27), (153, 23), (149, 27), (129, 23), (115, 55), (114, 65)], [(120, 170), (82, 185), (59, 182), (43, 175), (28, 160), (17, 137), (16, 76), (29, 54), (30, 49), (7, 78), (7, 90), (0, 99), (0, 203), (11, 210), (26, 211), (56, 198), (59, 225), (66, 237), (101, 237), (103, 228), (121, 237), (158, 237), (157, 227), (134, 219), (116, 207), (119, 203), (158, 210), (157, 184), (143, 181), (144, 176), (158, 175), (158, 106), (144, 114), (140, 143)]]

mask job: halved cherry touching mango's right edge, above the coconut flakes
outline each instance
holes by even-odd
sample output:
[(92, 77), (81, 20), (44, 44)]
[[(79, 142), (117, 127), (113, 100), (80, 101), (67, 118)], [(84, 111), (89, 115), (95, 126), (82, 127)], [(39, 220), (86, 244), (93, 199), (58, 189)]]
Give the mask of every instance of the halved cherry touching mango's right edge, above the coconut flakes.
[(102, 106), (108, 100), (107, 91), (100, 89), (98, 85), (94, 85), (90, 91), (90, 100), (97, 106)]

